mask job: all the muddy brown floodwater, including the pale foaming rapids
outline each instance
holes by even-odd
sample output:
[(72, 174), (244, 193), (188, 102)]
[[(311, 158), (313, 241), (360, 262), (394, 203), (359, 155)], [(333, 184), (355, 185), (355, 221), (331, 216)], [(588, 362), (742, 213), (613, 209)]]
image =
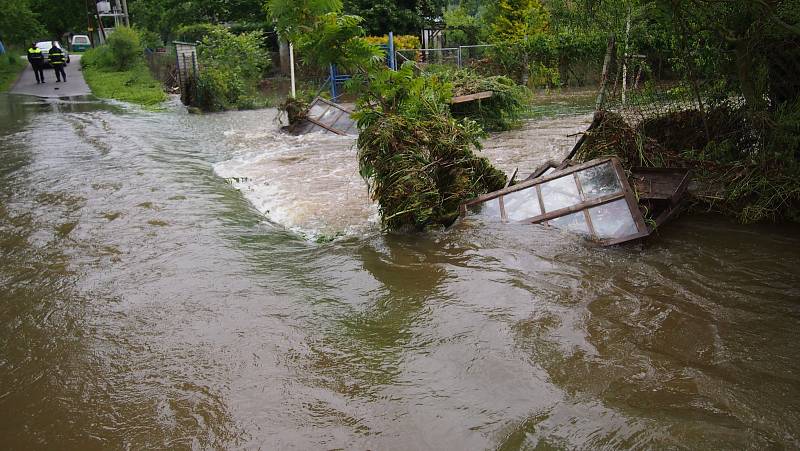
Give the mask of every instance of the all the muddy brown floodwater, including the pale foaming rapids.
[(0, 97), (3, 449), (800, 446), (797, 227), (385, 234), (352, 138), (273, 119)]

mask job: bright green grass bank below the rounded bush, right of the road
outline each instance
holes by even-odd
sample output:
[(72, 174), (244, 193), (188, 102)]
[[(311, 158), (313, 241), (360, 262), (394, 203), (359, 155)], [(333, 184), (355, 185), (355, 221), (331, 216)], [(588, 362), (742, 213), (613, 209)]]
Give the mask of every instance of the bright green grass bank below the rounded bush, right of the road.
[(168, 97), (161, 83), (153, 78), (144, 61), (137, 61), (130, 69), (115, 71), (98, 63), (101, 47), (91, 49), (81, 57), (83, 77), (92, 94), (101, 99), (114, 99), (134, 103), (149, 109), (165, 102)]

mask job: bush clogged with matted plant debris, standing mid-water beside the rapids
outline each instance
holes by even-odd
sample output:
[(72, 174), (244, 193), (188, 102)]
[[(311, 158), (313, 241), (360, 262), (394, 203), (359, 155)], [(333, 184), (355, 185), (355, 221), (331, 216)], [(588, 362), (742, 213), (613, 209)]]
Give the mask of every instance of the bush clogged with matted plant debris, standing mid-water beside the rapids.
[(503, 187), (505, 174), (475, 154), (483, 129), (450, 115), (448, 85), (415, 76), (410, 63), (369, 77), (355, 115), (358, 158), (384, 227), (449, 226), (461, 202)]

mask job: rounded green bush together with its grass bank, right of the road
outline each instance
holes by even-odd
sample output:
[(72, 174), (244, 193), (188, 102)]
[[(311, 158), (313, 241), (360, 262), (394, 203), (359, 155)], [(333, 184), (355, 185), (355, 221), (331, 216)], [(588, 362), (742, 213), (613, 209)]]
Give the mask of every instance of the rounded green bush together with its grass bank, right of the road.
[(144, 62), (138, 33), (120, 27), (109, 36), (108, 45), (87, 51), (81, 58), (83, 75), (92, 93), (147, 107), (167, 100), (167, 95)]

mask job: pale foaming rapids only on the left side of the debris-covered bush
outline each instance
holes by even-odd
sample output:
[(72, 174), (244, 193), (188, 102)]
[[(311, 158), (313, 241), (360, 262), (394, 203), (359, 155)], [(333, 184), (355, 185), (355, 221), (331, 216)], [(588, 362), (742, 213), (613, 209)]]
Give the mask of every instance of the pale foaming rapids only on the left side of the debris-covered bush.
[(214, 165), (215, 172), (273, 222), (310, 239), (377, 227), (353, 137), (277, 129), (224, 135), (237, 151)]

